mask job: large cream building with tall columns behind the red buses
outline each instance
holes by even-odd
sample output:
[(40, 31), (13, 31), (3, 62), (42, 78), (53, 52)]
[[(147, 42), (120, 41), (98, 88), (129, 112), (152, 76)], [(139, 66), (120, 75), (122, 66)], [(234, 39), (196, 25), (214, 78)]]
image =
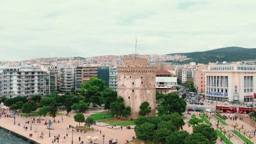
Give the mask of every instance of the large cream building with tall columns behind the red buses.
[(243, 103), (256, 97), (256, 64), (209, 63), (205, 96), (214, 101)]

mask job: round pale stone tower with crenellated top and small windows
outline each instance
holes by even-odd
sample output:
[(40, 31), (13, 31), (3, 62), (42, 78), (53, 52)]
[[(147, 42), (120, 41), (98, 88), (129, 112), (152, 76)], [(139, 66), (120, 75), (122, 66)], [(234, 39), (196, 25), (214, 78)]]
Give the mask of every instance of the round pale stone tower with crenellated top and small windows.
[(126, 58), (125, 66), (117, 67), (117, 71), (118, 96), (131, 107), (129, 118), (140, 116), (139, 107), (144, 101), (150, 104), (150, 116), (156, 116), (156, 67), (147, 66), (147, 58)]

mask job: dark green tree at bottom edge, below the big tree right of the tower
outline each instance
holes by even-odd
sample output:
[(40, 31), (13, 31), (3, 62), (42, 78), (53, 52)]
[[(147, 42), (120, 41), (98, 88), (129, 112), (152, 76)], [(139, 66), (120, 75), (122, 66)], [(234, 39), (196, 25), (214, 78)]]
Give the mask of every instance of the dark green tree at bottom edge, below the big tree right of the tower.
[(165, 138), (166, 144), (186, 144), (185, 139), (188, 137), (187, 131), (175, 131)]

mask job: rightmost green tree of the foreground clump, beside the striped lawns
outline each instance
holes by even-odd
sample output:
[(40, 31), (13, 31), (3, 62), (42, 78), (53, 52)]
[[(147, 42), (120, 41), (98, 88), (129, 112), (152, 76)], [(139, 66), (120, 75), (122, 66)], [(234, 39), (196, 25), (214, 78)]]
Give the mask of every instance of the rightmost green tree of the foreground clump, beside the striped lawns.
[(202, 134), (209, 140), (208, 144), (215, 144), (217, 140), (217, 134), (211, 126), (201, 124), (193, 127), (193, 133)]

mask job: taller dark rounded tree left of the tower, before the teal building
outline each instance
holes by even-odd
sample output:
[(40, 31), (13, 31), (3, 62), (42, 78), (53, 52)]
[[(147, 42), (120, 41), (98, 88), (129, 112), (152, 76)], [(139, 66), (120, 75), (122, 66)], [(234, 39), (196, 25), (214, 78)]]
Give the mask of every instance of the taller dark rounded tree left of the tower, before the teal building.
[(110, 109), (110, 104), (112, 102), (115, 102), (117, 99), (117, 92), (113, 91), (110, 88), (104, 89), (104, 91), (102, 92), (102, 96), (103, 96), (103, 101), (104, 101), (104, 109), (105, 110), (109, 110)]

